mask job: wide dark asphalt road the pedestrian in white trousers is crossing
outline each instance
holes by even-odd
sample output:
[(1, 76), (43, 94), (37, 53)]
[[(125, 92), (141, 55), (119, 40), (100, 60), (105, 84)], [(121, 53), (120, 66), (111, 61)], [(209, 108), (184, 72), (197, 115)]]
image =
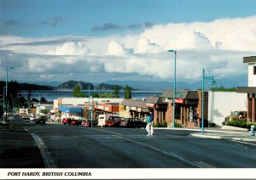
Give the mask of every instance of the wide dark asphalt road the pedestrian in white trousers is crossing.
[[(195, 138), (189, 131), (143, 128), (26, 126), (58, 168), (255, 168), (256, 146)], [(192, 132), (193, 133), (193, 132)]]

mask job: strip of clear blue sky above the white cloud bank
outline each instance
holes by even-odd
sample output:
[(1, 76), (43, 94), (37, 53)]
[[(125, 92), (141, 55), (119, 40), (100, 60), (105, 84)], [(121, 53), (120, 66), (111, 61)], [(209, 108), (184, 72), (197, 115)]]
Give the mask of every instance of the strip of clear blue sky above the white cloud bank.
[(253, 0), (1, 0), (0, 32), (22, 37), (105, 36), (145, 25), (255, 14)]

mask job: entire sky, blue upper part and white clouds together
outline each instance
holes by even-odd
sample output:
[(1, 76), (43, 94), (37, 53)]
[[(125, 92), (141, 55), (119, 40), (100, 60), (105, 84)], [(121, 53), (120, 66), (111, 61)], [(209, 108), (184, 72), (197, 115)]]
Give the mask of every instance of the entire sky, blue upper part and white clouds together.
[[(255, 0), (0, 0), (0, 80), (247, 84)], [(236, 81), (234, 81), (236, 80)]]

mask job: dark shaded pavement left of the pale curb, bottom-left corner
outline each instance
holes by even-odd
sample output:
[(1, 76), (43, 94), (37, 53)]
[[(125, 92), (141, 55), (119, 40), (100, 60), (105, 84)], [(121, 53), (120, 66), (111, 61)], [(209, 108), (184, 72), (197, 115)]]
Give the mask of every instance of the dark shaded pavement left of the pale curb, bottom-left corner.
[(30, 132), (0, 130), (0, 168), (44, 168)]

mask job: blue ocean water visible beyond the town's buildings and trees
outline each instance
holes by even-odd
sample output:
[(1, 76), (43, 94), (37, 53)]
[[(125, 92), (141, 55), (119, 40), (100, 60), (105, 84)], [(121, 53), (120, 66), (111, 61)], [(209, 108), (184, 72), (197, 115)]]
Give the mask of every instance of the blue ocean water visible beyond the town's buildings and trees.
[[(27, 91), (20, 92), (20, 95), (27, 97)], [(82, 93), (88, 95), (88, 90), (82, 90)], [(90, 90), (92, 93), (113, 93), (111, 90)], [(131, 91), (131, 98), (143, 99), (150, 96), (160, 96), (163, 91)], [(72, 98), (73, 90), (50, 90), (50, 91), (32, 91), (31, 98), (45, 98), (48, 102), (54, 101), (57, 98)], [(119, 98), (125, 98), (125, 92), (119, 91)]]

